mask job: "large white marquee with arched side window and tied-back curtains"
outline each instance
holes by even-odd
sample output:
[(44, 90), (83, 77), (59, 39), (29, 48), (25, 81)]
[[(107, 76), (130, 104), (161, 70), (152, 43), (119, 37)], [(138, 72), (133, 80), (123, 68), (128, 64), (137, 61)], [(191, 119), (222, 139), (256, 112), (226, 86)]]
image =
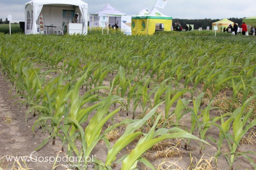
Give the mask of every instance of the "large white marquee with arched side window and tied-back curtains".
[(63, 11), (75, 11), (87, 34), (88, 4), (81, 0), (31, 0), (25, 4), (25, 34), (36, 34), (39, 15), (43, 14), (44, 25), (62, 27)]

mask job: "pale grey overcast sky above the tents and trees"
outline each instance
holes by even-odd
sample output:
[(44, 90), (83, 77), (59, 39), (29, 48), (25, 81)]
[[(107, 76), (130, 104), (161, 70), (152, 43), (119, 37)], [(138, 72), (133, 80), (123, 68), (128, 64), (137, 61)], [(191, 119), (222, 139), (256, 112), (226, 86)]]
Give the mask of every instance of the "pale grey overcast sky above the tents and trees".
[[(24, 4), (29, 0), (1, 0), (0, 18), (3, 20), (9, 13), (12, 22), (24, 21)], [(72, 1), (72, 0), (71, 0)], [(156, 0), (83, 0), (89, 4), (89, 12), (96, 12), (106, 4), (118, 11), (134, 15), (143, 8), (152, 9)], [(168, 0), (165, 9), (158, 9), (165, 15), (181, 19), (222, 19), (230, 17), (250, 17), (256, 15), (255, 0)]]

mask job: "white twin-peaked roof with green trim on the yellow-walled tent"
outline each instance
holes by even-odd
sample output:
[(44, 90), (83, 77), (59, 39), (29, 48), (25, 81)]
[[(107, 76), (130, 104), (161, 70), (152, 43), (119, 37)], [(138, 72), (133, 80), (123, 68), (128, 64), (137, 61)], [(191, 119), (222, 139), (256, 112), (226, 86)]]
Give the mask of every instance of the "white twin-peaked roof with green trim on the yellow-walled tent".
[(139, 12), (138, 13), (139, 15), (138, 14), (133, 15), (132, 19), (147, 19), (147, 18), (150, 18), (150, 19), (172, 19), (172, 17), (162, 14), (156, 8), (154, 8), (151, 12), (147, 12), (145, 10), (147, 13), (144, 10), (145, 9), (143, 9), (141, 12)]

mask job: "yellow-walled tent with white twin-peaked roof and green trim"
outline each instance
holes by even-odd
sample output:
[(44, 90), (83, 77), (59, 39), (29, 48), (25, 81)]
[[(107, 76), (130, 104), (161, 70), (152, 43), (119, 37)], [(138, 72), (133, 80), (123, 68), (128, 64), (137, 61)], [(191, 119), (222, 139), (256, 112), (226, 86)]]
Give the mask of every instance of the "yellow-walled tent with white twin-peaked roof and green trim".
[(156, 8), (152, 12), (143, 9), (132, 16), (132, 35), (154, 34), (156, 31), (171, 31), (172, 17), (166, 16)]

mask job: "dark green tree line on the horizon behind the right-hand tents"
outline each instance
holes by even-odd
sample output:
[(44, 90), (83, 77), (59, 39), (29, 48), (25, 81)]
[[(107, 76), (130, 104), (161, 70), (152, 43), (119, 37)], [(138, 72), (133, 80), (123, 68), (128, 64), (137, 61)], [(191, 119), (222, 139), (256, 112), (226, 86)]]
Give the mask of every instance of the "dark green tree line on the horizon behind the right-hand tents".
[[(245, 18), (245, 17), (244, 17)], [(241, 25), (244, 18), (228, 18), (228, 20), (238, 23)], [(210, 27), (212, 29), (212, 23), (217, 22), (220, 19), (172, 19), (172, 26), (174, 27), (175, 23), (180, 23), (180, 25), (185, 29), (186, 24), (194, 24), (194, 29), (199, 29), (202, 27), (206, 29), (206, 27)]]

